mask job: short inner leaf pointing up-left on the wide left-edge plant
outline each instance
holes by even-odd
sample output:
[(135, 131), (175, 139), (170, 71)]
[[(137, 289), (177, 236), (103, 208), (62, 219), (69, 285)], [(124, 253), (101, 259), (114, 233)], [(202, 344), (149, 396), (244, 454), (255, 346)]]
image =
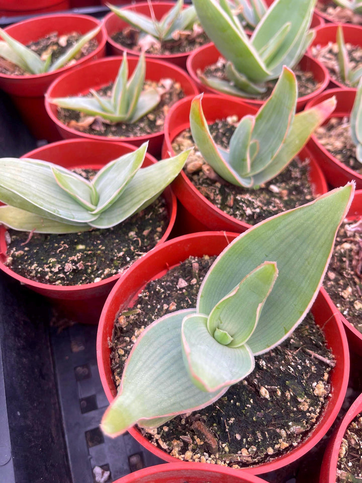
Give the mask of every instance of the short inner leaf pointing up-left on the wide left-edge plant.
[(58, 186), (84, 209), (92, 211), (96, 208), (92, 203), (93, 190), (91, 183), (70, 171), (69, 173), (64, 173), (57, 168), (52, 168), (52, 172)]

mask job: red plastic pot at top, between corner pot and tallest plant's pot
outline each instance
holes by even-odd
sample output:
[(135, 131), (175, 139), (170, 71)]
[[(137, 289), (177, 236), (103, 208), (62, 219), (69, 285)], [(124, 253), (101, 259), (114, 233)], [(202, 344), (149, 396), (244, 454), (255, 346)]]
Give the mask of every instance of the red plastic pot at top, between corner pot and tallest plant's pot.
[[(152, 7), (155, 13), (155, 17), (157, 20), (161, 20), (164, 14), (166, 14), (172, 7), (174, 7), (174, 2), (152, 2)], [(189, 7), (185, 5), (184, 8)], [(128, 5), (124, 7), (125, 10), (131, 10), (132, 12), (137, 12), (147, 17), (151, 17), (150, 9), (147, 2), (140, 2), (135, 5)], [(129, 27), (129, 24), (124, 20), (120, 19), (116, 14), (113, 12), (109, 13), (104, 19), (104, 25), (107, 30), (108, 38), (107, 42), (110, 47), (110, 51), (112, 55), (122, 55), (123, 52), (127, 52), (129, 55), (136, 55), (139, 56), (139, 52), (137, 50), (131, 50), (127, 47), (123, 47), (123, 45), (115, 42), (112, 39), (112, 36), (120, 32), (121, 30)], [(158, 60), (166, 60), (167, 62), (171, 62), (172, 64), (178, 65), (186, 69), (186, 60), (190, 52), (185, 53), (178, 53), (178, 54), (170, 54), (170, 55), (155, 55), (155, 54), (148, 54), (146, 53), (146, 57), (150, 59), (158, 59)]]

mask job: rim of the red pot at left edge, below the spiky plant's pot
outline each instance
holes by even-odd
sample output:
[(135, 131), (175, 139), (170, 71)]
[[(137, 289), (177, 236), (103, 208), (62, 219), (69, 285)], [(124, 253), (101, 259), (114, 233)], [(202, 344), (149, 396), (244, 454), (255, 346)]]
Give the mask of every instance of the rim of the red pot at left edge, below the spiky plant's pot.
[[(85, 142), (86, 143), (89, 143), (89, 142), (98, 143), (98, 144), (106, 142), (107, 144), (109, 144), (110, 141), (94, 141), (94, 140), (89, 141), (87, 139), (65, 139), (65, 140), (62, 140), (62, 141), (57, 141), (57, 142), (47, 144), (45, 146), (41, 146), (37, 149), (33, 149), (32, 151), (27, 152), (26, 154), (24, 154), (21, 157), (24, 158), (24, 157), (30, 157), (30, 156), (37, 156), (38, 154), (41, 156), (41, 153), (44, 150), (47, 150), (49, 148), (50, 149), (53, 149), (53, 148), (56, 149), (58, 147), (61, 148), (61, 146), (66, 145), (66, 144), (69, 145), (69, 144), (78, 144), (78, 143), (85, 143)], [(126, 142), (113, 141), (112, 143), (115, 144), (115, 145), (118, 145), (122, 148), (127, 149), (126, 152), (135, 151), (137, 149), (137, 146), (134, 146), (133, 144), (129, 144), (129, 143), (126, 143)], [(146, 153), (145, 160), (147, 160), (148, 164), (157, 163), (157, 159), (154, 158), (151, 154), (148, 154), (148, 153)], [(160, 238), (158, 244), (164, 243), (164, 241), (168, 238), (168, 236), (169, 236), (169, 234), (172, 230), (173, 224), (175, 222), (175, 219), (176, 219), (176, 197), (172, 193), (172, 190), (170, 189), (169, 186), (166, 187), (166, 189), (164, 190), (163, 193), (169, 199), (169, 206), (170, 206), (171, 209), (170, 209), (170, 213), (169, 213), (168, 226), (167, 226), (166, 231), (164, 232), (163, 236)], [(6, 250), (7, 250), (5, 238), (4, 238), (5, 231), (6, 231), (5, 226), (0, 224), (0, 256), (4, 256), (4, 254), (6, 253)], [(26, 277), (23, 277), (22, 275), (19, 275), (18, 273), (11, 270), (11, 268), (7, 267), (4, 264), (4, 262), (1, 260), (1, 258), (0, 258), (0, 270), (5, 272), (6, 274), (10, 275), (15, 280), (18, 280), (21, 284), (26, 285), (30, 288), (33, 288), (34, 290), (37, 290), (37, 289), (40, 290), (40, 291), (46, 290), (47, 292), (52, 292), (54, 294), (56, 294), (56, 293), (77, 294), (77, 293), (82, 293), (85, 290), (103, 288), (105, 285), (109, 285), (109, 284), (116, 282), (121, 276), (121, 274), (116, 274), (116, 275), (112, 275), (112, 277), (108, 277), (108, 278), (105, 278), (103, 280), (100, 280), (99, 282), (86, 283), (86, 284), (82, 284), (82, 285), (51, 285), (51, 284), (46, 284), (46, 283), (42, 283), (42, 282), (37, 282), (35, 280), (30, 280)]]

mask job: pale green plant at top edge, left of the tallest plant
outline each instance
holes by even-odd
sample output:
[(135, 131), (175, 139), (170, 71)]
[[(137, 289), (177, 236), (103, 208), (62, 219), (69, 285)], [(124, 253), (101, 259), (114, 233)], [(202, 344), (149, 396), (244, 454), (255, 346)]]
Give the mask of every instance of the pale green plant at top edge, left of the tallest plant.
[(151, 2), (148, 2), (151, 18), (111, 4), (106, 5), (122, 20), (160, 41), (172, 40), (172, 35), (177, 31), (192, 29), (198, 20), (193, 6), (184, 9), (184, 0), (178, 0), (159, 22), (155, 18)]

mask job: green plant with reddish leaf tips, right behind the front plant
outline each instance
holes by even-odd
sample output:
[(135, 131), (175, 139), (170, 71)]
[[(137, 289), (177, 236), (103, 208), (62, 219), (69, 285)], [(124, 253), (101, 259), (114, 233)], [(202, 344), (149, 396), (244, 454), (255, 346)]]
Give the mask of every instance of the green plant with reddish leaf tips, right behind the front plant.
[(245, 188), (266, 183), (283, 171), (336, 105), (330, 98), (296, 114), (297, 81), (285, 67), (272, 95), (256, 115), (241, 119), (225, 150), (211, 137), (201, 100), (202, 94), (196, 96), (190, 111), (195, 144), (219, 176)]

